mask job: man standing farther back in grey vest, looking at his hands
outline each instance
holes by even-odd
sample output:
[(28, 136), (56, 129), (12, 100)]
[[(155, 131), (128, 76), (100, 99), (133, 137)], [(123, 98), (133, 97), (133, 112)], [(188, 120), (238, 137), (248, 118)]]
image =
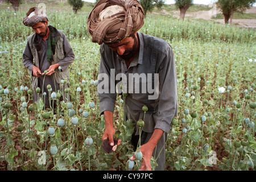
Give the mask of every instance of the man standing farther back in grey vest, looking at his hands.
[[(47, 85), (51, 85), (51, 93), (61, 90), (61, 100), (69, 100), (69, 94), (64, 93), (68, 84), (60, 84), (61, 80), (69, 79), (68, 66), (75, 60), (71, 48), (63, 31), (48, 26), (48, 17), (42, 9), (32, 7), (28, 10), (23, 24), (32, 27), (34, 34), (28, 36), (27, 46), (23, 52), (23, 65), (32, 75), (32, 89), (34, 101), (38, 102), (42, 92), (44, 106), (50, 107)], [(47, 71), (47, 73), (44, 73)], [(36, 88), (40, 88), (39, 98)]]

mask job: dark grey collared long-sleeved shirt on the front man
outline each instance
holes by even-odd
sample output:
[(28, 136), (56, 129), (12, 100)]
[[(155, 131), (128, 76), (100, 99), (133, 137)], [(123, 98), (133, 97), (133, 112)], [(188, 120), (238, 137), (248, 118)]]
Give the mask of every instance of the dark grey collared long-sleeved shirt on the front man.
[[(122, 77), (123, 80), (127, 80), (127, 82), (123, 81), (122, 84), (126, 85), (123, 88), (129, 93), (125, 100), (127, 119), (137, 122), (144, 118), (143, 131), (147, 133), (152, 133), (154, 129), (161, 129), (168, 133), (171, 129), (172, 118), (177, 115), (174, 53), (170, 44), (162, 39), (139, 32), (138, 39), (139, 53), (129, 68), (116, 52), (106, 44), (101, 45), (98, 77), (100, 112), (103, 114), (105, 110), (114, 111), (117, 96), (115, 92), (117, 89), (114, 86), (119, 88), (120, 77)], [(145, 117), (142, 111), (143, 105), (148, 107)]]

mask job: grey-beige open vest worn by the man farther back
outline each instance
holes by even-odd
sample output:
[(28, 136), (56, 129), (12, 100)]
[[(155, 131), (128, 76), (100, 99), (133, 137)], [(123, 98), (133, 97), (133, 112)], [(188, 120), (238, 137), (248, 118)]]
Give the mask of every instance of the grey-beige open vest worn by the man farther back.
[[(56, 42), (56, 48), (55, 48), (55, 55), (53, 56), (53, 61), (51, 64), (56, 64), (59, 62), (59, 60), (64, 59), (64, 51), (63, 51), (63, 31), (58, 30), (60, 33), (60, 39)], [(38, 51), (36, 51), (36, 48), (34, 44), (32, 44), (32, 40), (34, 40), (35, 34), (32, 34), (28, 36), (27, 40), (30, 45), (32, 55), (34, 57), (34, 65), (39, 68), (39, 59), (38, 59)], [(69, 80), (69, 69), (65, 69), (64, 71), (60, 71), (58, 68), (55, 69), (55, 81), (60, 84), (60, 80), (64, 80), (67, 78)], [(38, 77), (32, 76), (31, 79), (31, 85), (32, 89), (35, 90), (38, 87)], [(62, 85), (62, 84), (61, 84)], [(62, 90), (60, 85), (60, 90)]]

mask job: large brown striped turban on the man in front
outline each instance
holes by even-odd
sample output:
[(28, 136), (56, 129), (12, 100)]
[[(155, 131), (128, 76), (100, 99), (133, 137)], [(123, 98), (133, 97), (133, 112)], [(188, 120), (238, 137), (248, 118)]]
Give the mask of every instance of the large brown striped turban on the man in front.
[(100, 0), (87, 20), (92, 42), (98, 44), (119, 43), (143, 24), (143, 7), (136, 0)]

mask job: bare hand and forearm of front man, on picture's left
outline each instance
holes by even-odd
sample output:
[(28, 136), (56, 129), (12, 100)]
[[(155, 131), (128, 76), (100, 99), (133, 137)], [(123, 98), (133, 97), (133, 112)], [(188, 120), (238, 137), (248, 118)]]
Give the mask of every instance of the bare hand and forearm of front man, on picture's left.
[[(102, 135), (102, 140), (109, 139), (110, 146), (114, 146), (114, 134), (115, 129), (113, 126), (113, 113), (111, 111), (104, 111), (104, 117), (105, 117), (105, 131)], [(121, 144), (121, 139), (118, 140), (117, 146)]]

